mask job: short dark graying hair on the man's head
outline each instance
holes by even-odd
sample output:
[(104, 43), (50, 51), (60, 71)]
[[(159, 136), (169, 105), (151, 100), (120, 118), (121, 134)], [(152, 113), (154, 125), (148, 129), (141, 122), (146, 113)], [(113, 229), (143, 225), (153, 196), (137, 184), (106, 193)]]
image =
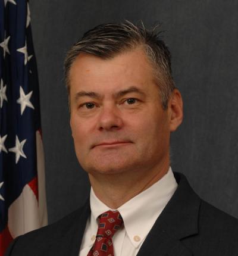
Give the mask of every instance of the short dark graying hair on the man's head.
[(155, 81), (159, 87), (162, 107), (167, 109), (168, 99), (175, 89), (171, 71), (171, 54), (158, 26), (148, 30), (138, 27), (130, 21), (118, 24), (101, 24), (84, 33), (67, 52), (64, 62), (65, 83), (70, 95), (70, 68), (80, 52), (95, 55), (102, 59), (110, 59), (115, 55), (142, 46), (155, 73)]

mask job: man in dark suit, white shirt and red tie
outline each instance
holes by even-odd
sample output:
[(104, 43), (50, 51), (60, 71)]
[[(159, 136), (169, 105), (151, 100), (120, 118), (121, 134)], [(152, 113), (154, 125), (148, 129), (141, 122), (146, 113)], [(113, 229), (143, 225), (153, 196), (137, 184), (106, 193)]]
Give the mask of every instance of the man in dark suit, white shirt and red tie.
[(170, 167), (183, 103), (155, 30), (127, 21), (85, 33), (65, 79), (90, 200), (15, 239), (7, 255), (238, 255), (238, 221), (202, 201)]

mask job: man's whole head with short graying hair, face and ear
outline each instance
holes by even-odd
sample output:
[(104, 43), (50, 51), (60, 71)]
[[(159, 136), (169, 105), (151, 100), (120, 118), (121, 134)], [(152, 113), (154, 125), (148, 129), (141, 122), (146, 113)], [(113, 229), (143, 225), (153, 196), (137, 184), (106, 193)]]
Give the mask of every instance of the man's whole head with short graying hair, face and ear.
[(65, 76), (74, 146), (84, 170), (92, 176), (145, 177), (168, 165), (182, 102), (170, 52), (155, 32), (131, 23), (98, 26), (68, 52)]

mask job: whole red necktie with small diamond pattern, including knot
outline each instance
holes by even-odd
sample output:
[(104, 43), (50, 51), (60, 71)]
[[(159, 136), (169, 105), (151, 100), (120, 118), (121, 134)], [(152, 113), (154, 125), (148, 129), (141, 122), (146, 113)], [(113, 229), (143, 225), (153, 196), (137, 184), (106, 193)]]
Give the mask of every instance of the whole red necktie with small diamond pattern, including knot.
[(120, 229), (123, 218), (118, 211), (106, 211), (99, 216), (98, 233), (87, 256), (114, 256), (112, 236)]

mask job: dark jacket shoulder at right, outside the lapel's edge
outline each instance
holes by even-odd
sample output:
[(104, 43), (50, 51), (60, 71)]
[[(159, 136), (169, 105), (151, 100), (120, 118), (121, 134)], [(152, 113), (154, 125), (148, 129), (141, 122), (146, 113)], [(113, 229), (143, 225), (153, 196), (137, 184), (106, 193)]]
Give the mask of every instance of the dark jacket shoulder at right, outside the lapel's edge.
[[(201, 199), (198, 234), (184, 239), (201, 255), (238, 255), (238, 220)], [(212, 250), (210, 253), (209, 250)], [(200, 255), (199, 254), (199, 255)]]

